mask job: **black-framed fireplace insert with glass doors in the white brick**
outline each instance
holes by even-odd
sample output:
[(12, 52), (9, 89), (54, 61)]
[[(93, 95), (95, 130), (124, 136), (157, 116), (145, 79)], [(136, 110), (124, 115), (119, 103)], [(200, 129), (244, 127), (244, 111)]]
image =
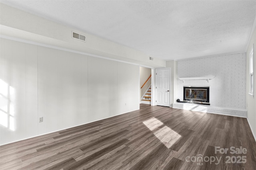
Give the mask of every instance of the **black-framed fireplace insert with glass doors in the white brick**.
[(210, 105), (209, 86), (184, 86), (183, 87), (183, 101), (196, 103), (196, 104), (206, 104)]

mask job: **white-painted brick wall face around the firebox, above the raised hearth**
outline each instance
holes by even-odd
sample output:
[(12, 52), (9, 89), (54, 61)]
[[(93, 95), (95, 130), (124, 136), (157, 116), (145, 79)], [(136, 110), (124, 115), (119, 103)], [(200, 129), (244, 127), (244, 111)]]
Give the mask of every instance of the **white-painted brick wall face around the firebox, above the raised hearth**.
[(215, 76), (209, 80), (177, 81), (177, 99), (183, 100), (183, 86), (210, 86), (210, 104), (216, 107), (246, 108), (246, 53), (218, 55), (178, 61), (178, 77)]

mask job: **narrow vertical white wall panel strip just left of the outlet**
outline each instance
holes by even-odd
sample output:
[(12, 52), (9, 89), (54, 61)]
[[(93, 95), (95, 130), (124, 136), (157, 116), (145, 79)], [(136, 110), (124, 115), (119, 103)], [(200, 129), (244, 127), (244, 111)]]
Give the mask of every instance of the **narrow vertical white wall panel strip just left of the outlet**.
[(26, 134), (38, 134), (37, 46), (26, 44)]

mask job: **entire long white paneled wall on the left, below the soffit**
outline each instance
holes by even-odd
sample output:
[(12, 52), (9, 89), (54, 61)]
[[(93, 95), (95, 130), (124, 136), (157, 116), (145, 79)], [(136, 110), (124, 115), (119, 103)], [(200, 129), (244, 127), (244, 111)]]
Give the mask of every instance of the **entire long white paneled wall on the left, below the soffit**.
[(1, 39), (0, 145), (137, 110), (139, 85), (137, 65)]

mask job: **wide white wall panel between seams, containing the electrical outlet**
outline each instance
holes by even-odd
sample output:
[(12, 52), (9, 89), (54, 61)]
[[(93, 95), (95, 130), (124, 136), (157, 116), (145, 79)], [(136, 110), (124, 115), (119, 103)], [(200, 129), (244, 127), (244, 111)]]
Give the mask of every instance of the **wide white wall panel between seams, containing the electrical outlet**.
[(38, 134), (88, 123), (88, 57), (38, 47)]

